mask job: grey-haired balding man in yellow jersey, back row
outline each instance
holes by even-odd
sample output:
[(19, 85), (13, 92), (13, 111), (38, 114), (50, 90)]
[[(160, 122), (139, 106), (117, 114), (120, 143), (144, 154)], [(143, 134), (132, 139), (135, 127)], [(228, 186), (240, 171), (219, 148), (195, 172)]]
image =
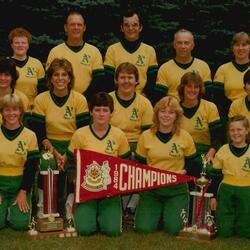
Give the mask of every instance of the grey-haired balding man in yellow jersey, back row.
[(173, 47), (176, 55), (175, 58), (165, 62), (159, 68), (154, 102), (167, 94), (178, 98), (177, 87), (180, 84), (181, 77), (184, 73), (190, 71), (197, 71), (200, 74), (206, 88), (206, 95), (208, 95), (208, 90), (211, 89), (212, 85), (211, 71), (206, 62), (192, 56), (194, 46), (192, 32), (180, 29), (175, 33)]

